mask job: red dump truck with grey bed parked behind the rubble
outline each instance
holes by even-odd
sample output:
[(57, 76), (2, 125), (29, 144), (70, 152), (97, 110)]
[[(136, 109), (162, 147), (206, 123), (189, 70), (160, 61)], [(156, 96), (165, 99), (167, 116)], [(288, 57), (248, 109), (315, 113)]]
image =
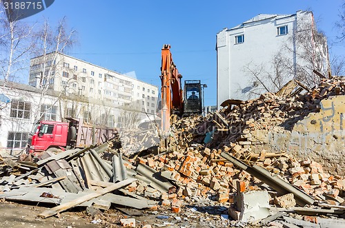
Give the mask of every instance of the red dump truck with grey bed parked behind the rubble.
[(38, 155), (43, 151), (56, 152), (104, 143), (117, 134), (117, 129), (85, 125), (79, 118), (66, 118), (68, 122), (39, 121), (28, 140), (28, 152)]

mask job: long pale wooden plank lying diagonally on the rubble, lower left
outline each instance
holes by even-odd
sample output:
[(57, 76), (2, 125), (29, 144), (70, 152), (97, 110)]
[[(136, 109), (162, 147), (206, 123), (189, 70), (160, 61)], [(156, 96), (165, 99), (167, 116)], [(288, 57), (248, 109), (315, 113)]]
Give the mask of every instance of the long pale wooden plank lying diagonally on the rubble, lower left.
[(120, 187), (124, 187), (126, 185), (129, 185), (130, 183), (132, 183), (133, 181), (135, 181), (137, 179), (135, 178), (128, 178), (127, 180), (123, 180), (119, 183), (114, 183), (112, 184), (112, 186), (110, 187), (106, 187), (105, 189), (101, 189), (99, 191), (96, 192), (92, 192), (86, 196), (81, 196), (79, 198), (76, 198), (75, 200), (72, 200), (69, 203), (65, 203), (63, 205), (59, 205), (57, 207), (53, 207), (51, 209), (48, 209), (46, 211), (43, 211), (41, 214), (39, 214), (39, 217), (41, 218), (48, 218), (50, 216), (55, 216), (57, 213), (61, 212), (61, 211), (65, 211), (67, 209), (70, 209), (71, 207), (75, 207), (77, 205), (80, 205), (81, 203), (84, 203), (88, 200), (92, 200), (93, 198), (97, 198), (99, 196), (103, 196), (104, 194), (107, 194), (110, 191), (114, 191), (116, 189), (119, 189)]

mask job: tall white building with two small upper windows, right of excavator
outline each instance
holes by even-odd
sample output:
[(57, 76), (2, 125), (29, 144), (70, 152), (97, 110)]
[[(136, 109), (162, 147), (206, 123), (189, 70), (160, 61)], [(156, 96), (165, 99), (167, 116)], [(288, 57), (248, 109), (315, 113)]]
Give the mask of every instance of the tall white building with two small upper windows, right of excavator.
[(329, 70), (326, 39), (316, 32), (312, 12), (259, 14), (218, 32), (216, 49), (217, 107), (276, 92), (290, 79), (308, 84), (313, 70)]

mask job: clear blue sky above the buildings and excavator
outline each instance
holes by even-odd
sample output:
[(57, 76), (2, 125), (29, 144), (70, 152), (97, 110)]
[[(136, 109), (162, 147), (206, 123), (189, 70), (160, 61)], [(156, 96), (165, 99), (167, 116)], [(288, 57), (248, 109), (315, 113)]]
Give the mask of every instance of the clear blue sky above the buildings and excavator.
[[(27, 19), (49, 19), (55, 25), (66, 16), (77, 30), (78, 43), (67, 54), (115, 70), (135, 71), (137, 79), (160, 87), (161, 48), (171, 45), (172, 57), (184, 80), (206, 83), (205, 105), (216, 104), (216, 34), (257, 14), (294, 14), (311, 10), (319, 30), (332, 45), (337, 35), (340, 0), (286, 1), (85, 1), (55, 0), (50, 8)], [(344, 45), (331, 48), (342, 54)]]

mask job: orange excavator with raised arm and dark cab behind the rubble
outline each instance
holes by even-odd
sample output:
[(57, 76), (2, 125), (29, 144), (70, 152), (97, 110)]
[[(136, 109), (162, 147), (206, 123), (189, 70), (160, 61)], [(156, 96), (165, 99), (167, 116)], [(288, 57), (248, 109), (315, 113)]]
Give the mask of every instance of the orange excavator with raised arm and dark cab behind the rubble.
[(202, 93), (200, 80), (184, 82), (182, 75), (172, 61), (170, 45), (161, 49), (161, 134), (167, 136), (170, 129), (170, 116), (189, 116), (202, 113)]

